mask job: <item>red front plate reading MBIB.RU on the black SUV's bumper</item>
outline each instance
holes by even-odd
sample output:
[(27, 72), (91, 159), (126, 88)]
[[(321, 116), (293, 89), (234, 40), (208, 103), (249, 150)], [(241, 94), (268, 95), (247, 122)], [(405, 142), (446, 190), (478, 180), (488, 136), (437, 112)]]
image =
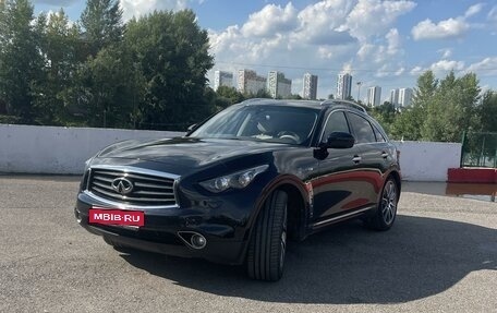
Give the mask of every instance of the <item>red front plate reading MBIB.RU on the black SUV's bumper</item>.
[(140, 227), (145, 225), (145, 214), (141, 210), (93, 207), (89, 209), (89, 222)]

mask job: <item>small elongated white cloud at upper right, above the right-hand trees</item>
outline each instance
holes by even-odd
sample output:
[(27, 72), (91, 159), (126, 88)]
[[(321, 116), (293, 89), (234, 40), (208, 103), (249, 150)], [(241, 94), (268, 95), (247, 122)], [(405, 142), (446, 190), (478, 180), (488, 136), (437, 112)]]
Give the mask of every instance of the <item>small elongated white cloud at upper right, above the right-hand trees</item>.
[(412, 28), (414, 40), (423, 39), (441, 39), (449, 37), (460, 37), (468, 29), (470, 25), (463, 19), (449, 19), (441, 21), (437, 24), (432, 20), (426, 19), (420, 22)]

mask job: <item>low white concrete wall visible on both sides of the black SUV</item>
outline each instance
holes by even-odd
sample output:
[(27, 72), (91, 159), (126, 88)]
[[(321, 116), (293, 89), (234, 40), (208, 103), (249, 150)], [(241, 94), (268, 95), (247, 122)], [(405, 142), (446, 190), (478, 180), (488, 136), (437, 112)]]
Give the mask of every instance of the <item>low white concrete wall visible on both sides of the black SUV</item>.
[[(0, 172), (82, 173), (84, 161), (102, 147), (129, 139), (159, 139), (179, 132), (0, 124)], [(461, 144), (396, 142), (404, 180), (446, 181), (458, 168)]]

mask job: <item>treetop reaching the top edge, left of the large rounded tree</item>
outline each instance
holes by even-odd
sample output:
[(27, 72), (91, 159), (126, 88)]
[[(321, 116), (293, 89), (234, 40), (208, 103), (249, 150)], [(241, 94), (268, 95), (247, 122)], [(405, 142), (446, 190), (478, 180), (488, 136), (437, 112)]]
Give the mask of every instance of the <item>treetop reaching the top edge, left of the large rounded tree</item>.
[(95, 57), (101, 49), (121, 41), (122, 10), (118, 0), (87, 0), (81, 14), (86, 52)]

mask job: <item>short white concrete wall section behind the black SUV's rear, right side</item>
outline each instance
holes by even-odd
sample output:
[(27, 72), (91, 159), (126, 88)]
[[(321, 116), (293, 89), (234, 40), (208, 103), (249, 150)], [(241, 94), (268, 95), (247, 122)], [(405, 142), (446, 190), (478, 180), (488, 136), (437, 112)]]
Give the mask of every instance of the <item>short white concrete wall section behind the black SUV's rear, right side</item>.
[(400, 149), (402, 179), (447, 181), (447, 169), (459, 168), (460, 143), (396, 142)]

